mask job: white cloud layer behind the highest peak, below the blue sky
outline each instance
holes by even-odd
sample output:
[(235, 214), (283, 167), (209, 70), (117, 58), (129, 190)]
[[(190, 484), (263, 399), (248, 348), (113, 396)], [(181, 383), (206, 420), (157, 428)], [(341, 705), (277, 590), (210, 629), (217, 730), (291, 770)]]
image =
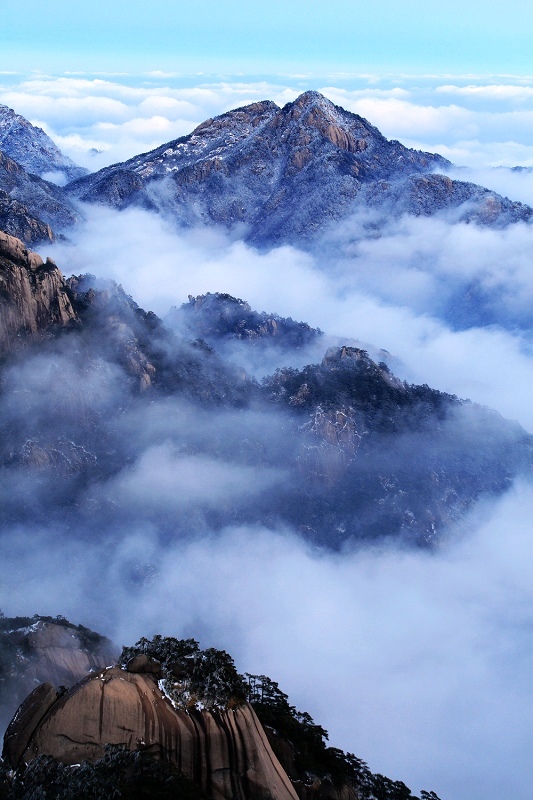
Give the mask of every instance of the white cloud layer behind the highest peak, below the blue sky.
[[(90, 169), (190, 133), (208, 117), (256, 100), (280, 105), (314, 88), (391, 138), (460, 165), (533, 165), (533, 80), (336, 75), (186, 77), (4, 76), (0, 102), (47, 132)], [(91, 152), (100, 150), (101, 153)]]

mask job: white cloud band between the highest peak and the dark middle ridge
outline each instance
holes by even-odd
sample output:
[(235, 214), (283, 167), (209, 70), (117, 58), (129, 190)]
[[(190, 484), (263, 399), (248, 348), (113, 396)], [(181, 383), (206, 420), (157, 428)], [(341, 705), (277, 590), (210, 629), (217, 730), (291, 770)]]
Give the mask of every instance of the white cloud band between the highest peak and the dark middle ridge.
[[(259, 253), (214, 228), (176, 232), (140, 210), (85, 214), (75, 247), (43, 252), (67, 274), (111, 277), (160, 315), (189, 294), (228, 292), (259, 311), (384, 348), (410, 382), (487, 404), (533, 430), (530, 226), (494, 231), (407, 217), (380, 238), (354, 241), (355, 218), (313, 255), (292, 247)], [(462, 316), (458, 304), (472, 286), (485, 307), (465, 326), (473, 312), (466, 306)]]

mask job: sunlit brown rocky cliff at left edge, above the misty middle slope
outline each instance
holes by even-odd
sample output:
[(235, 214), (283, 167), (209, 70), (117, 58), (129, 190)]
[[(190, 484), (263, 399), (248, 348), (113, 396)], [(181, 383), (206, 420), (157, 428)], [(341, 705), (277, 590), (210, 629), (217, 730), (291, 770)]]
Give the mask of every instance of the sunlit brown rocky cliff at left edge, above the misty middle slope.
[(0, 353), (76, 320), (55, 263), (0, 231)]

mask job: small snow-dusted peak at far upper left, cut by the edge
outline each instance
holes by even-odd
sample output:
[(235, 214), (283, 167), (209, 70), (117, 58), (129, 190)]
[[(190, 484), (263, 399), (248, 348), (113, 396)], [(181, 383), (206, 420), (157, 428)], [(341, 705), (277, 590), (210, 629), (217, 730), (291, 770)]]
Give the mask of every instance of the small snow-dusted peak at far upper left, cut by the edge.
[(33, 175), (59, 173), (63, 180), (74, 180), (87, 172), (62, 153), (42, 128), (1, 104), (0, 150)]

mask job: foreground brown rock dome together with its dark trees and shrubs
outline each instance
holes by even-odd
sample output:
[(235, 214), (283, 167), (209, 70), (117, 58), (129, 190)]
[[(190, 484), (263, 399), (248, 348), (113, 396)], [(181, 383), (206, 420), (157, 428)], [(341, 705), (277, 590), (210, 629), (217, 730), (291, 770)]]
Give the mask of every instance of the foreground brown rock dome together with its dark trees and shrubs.
[[(182, 797), (187, 783), (172, 791), (179, 775), (191, 782), (186, 797), (206, 800), (418, 800), (401, 781), (329, 747), (327, 736), (270, 678), (240, 675), (225, 651), (201, 650), (194, 639), (143, 638), (123, 649), (119, 666), (93, 669), (70, 689), (49, 682), (34, 689), (4, 737), (0, 792), (26, 797), (10, 794), (13, 786), (29, 798), (39, 776), (41, 792), (63, 785), (69, 797)], [(135, 790), (136, 772), (144, 781)], [(161, 778), (167, 791), (151, 794)]]

